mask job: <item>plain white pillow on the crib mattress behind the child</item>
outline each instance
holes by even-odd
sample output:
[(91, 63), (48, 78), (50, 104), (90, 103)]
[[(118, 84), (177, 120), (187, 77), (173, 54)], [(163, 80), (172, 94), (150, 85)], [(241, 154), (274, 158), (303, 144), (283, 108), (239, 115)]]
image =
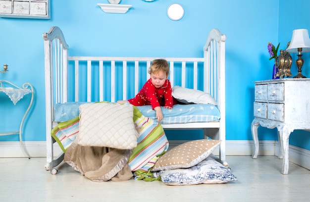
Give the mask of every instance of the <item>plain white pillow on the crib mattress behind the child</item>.
[(183, 103), (190, 104), (214, 104), (217, 105), (217, 102), (210, 96), (203, 91), (183, 88), (180, 86), (174, 86), (172, 88), (172, 96)]

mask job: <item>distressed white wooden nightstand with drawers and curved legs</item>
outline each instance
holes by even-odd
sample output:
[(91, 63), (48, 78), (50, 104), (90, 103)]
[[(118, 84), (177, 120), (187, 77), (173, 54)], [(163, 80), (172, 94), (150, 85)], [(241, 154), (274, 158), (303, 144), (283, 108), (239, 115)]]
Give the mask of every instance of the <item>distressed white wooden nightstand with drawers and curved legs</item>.
[(310, 79), (275, 79), (255, 82), (254, 120), (251, 124), (257, 158), (258, 126), (277, 128), (282, 174), (289, 170), (289, 137), (294, 130), (310, 130)]

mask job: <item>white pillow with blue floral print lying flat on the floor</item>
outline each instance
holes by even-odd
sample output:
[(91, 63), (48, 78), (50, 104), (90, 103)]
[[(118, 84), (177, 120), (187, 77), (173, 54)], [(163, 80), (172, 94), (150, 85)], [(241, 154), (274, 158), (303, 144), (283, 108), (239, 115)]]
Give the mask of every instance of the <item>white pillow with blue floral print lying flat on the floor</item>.
[(167, 185), (222, 184), (238, 180), (228, 168), (210, 156), (192, 167), (162, 170), (156, 174)]

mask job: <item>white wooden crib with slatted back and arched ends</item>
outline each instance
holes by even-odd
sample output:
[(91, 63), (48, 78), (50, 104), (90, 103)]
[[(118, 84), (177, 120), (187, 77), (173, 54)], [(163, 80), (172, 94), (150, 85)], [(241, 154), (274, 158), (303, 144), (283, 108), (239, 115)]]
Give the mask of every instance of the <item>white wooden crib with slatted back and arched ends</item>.
[[(61, 153), (55, 157), (53, 152), (55, 141), (52, 139), (51, 130), (56, 124), (53, 121), (54, 105), (68, 101), (128, 100), (139, 92), (141, 84), (143, 85), (149, 78), (146, 69), (151, 65), (152, 60), (158, 57), (69, 56), (69, 47), (58, 27), (52, 27), (48, 33), (43, 33), (43, 38), (47, 141), (45, 168), (51, 170), (63, 160), (64, 155)], [(218, 102), (220, 121), (162, 124), (162, 126), (164, 129), (200, 129), (204, 131), (205, 138), (221, 140), (219, 160), (227, 166), (225, 158), (225, 40), (225, 35), (217, 29), (212, 29), (207, 36), (206, 45), (202, 47), (204, 57), (163, 57), (170, 65), (171, 86), (190, 86), (190, 88), (210, 94)], [(191, 69), (192, 78), (190, 79), (188, 68)], [(131, 77), (134, 79), (128, 79)], [(122, 80), (121, 85), (119, 80)], [(188, 80), (193, 83), (187, 84)], [(86, 86), (85, 89), (82, 89), (84, 86)]]

